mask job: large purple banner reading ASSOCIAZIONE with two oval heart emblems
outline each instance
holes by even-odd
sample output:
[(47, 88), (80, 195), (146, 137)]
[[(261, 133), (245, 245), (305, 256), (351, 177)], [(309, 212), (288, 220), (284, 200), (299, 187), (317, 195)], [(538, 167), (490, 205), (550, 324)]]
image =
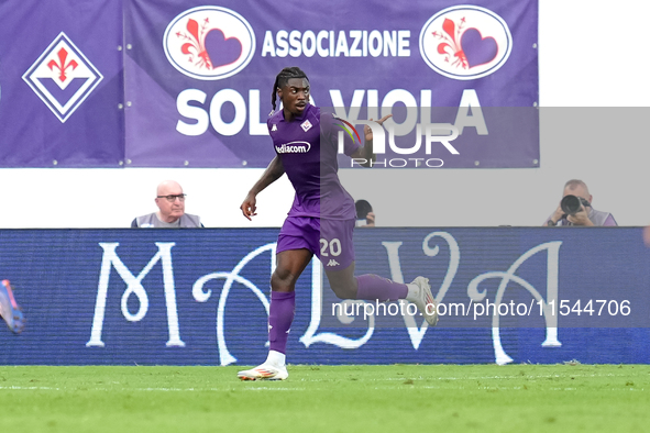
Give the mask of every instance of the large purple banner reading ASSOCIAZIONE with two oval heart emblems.
[[(393, 112), (397, 147), (412, 147), (416, 124), (422, 135), (426, 124), (456, 127), (458, 153), (425, 149), (423, 136), (414, 156), (536, 167), (537, 1), (458, 3), (132, 2), (126, 157), (134, 166), (265, 167), (273, 82), (297, 65), (313, 103), (352, 123)], [(388, 155), (388, 134), (386, 143)]]

